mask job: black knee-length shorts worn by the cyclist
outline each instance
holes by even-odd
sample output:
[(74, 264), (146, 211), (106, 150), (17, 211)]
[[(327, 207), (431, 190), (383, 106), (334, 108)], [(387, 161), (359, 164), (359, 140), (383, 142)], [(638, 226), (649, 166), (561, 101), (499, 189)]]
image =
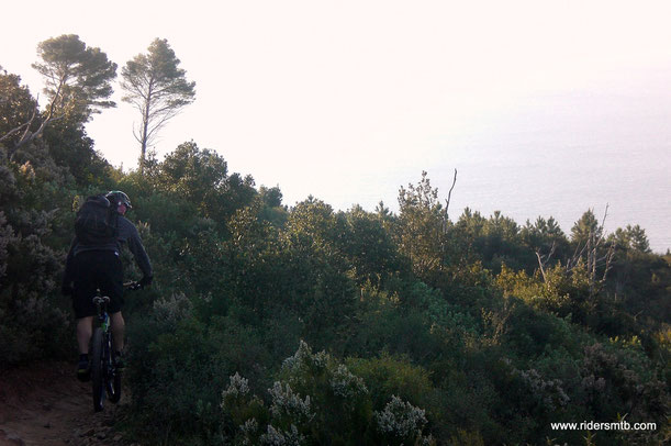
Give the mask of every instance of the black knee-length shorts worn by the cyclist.
[(123, 306), (123, 268), (113, 250), (86, 250), (74, 258), (75, 289), (72, 306), (77, 319), (97, 314), (93, 297), (100, 289), (110, 298), (108, 313), (116, 313)]

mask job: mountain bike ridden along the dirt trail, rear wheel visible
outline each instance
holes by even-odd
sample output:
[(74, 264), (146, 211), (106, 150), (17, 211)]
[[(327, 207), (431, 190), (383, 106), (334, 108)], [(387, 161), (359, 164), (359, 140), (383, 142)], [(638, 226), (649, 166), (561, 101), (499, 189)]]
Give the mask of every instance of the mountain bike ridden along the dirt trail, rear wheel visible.
[[(124, 289), (137, 290), (137, 282), (123, 285)], [(121, 399), (121, 372), (114, 365), (114, 339), (110, 330), (110, 315), (108, 303), (110, 298), (101, 296), (100, 290), (93, 297), (98, 316), (94, 321), (93, 336), (91, 337), (91, 383), (93, 387), (93, 410), (102, 411), (105, 394), (110, 402), (116, 403)]]

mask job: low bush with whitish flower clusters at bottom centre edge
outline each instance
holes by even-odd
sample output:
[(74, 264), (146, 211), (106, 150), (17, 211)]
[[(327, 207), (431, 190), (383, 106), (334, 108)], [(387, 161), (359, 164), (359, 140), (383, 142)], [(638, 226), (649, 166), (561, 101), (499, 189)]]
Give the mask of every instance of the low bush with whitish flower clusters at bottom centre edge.
[(222, 409), (234, 444), (433, 444), (424, 410), (392, 395), (373, 411), (364, 379), (303, 342), (267, 392), (265, 404), (246, 379), (231, 377)]

